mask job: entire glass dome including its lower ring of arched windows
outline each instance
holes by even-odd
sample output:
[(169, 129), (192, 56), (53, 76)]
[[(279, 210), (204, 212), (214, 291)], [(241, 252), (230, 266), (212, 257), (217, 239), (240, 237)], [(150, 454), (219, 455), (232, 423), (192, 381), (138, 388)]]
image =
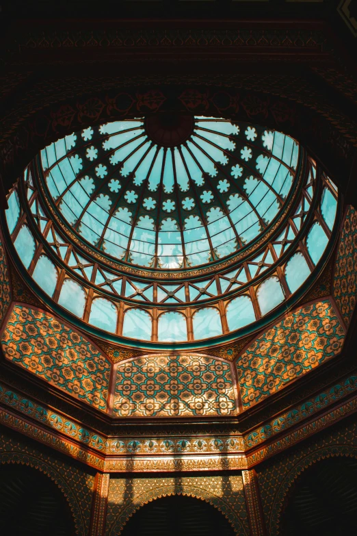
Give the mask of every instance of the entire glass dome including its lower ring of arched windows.
[(42, 300), (148, 348), (261, 329), (313, 282), (339, 221), (336, 187), (289, 136), (170, 114), (54, 142), (8, 206)]

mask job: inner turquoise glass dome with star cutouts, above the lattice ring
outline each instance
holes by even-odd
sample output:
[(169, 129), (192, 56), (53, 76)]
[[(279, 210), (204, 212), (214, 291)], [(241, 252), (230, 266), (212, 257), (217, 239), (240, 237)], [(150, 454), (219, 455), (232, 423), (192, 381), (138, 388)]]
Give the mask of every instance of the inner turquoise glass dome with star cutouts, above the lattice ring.
[(298, 155), (292, 138), (256, 125), (157, 114), (73, 133), (41, 163), (53, 209), (81, 240), (172, 270), (256, 240), (285, 205)]

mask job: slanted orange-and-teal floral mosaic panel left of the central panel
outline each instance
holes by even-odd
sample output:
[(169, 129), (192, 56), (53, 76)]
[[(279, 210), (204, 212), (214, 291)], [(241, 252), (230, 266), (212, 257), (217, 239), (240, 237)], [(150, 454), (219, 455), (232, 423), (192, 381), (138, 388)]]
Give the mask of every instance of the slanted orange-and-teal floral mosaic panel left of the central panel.
[(105, 411), (111, 364), (79, 333), (49, 314), (15, 305), (1, 344), (9, 361)]

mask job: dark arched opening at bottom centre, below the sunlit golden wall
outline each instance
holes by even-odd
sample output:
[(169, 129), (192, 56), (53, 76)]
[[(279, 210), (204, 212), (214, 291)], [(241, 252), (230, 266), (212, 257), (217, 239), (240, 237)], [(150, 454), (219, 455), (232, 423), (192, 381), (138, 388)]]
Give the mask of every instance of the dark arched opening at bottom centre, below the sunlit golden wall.
[(159, 498), (134, 513), (121, 535), (234, 536), (224, 515), (208, 502), (173, 495)]

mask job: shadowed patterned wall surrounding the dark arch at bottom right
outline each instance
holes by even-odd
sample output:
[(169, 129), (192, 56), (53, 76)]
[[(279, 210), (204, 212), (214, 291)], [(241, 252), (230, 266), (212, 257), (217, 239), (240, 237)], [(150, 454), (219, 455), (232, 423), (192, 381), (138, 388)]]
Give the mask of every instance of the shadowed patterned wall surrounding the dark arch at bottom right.
[(357, 423), (339, 424), (333, 431), (315, 435), (303, 445), (256, 466), (261, 503), (270, 536), (280, 534), (280, 514), (294, 479), (311, 463), (330, 456), (357, 458)]

